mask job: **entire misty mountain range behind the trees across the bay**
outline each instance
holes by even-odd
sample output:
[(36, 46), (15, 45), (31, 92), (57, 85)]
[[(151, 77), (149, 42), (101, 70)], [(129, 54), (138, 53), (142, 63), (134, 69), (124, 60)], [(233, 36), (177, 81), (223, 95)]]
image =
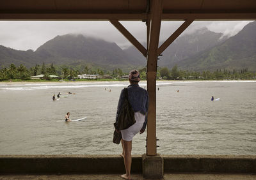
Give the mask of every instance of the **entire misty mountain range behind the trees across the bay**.
[[(256, 71), (256, 21), (244, 26), (235, 36), (227, 38), (207, 28), (184, 34), (173, 41), (159, 57), (158, 66), (183, 70), (216, 70), (248, 68)], [(160, 42), (159, 44), (161, 45)], [(143, 43), (145, 46), (145, 43)], [(11, 63), (27, 67), (35, 64), (65, 64), (68, 66), (98, 66), (104, 70), (129, 70), (147, 65), (134, 47), (121, 49), (116, 43), (84, 36), (56, 36), (33, 50), (14, 50), (0, 45), (0, 66)]]

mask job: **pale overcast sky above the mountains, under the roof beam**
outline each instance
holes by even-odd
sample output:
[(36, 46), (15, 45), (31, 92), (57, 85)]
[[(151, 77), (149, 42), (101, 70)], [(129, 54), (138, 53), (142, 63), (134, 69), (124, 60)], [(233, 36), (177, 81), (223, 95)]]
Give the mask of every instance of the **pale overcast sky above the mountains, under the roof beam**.
[[(252, 21), (196, 21), (185, 33), (207, 27), (210, 31), (234, 36)], [(121, 22), (138, 41), (146, 41), (144, 22)], [(166, 40), (180, 25), (180, 21), (164, 21), (161, 24), (160, 40)], [(17, 50), (36, 50), (46, 41), (63, 34), (85, 34), (113, 41), (122, 49), (131, 45), (108, 21), (0, 21), (0, 45)]]

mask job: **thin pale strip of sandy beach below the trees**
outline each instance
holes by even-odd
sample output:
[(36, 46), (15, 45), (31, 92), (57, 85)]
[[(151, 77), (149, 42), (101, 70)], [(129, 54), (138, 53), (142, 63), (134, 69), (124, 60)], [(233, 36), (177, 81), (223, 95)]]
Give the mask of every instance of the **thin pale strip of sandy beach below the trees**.
[[(0, 85), (22, 85), (22, 84), (97, 84), (97, 83), (120, 83), (129, 82), (128, 80), (84, 80), (84, 81), (19, 81), (6, 82), (1, 81)], [(147, 83), (147, 80), (141, 80), (142, 83)], [(157, 80), (156, 82), (256, 82), (256, 80)]]

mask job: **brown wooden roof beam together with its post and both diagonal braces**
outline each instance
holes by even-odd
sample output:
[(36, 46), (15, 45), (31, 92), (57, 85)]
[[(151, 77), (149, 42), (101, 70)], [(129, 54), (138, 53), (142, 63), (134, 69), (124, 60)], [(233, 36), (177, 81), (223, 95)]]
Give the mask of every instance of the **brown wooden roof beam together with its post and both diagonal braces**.
[[(147, 60), (149, 95), (147, 155), (156, 156), (157, 57), (194, 20), (255, 20), (254, 0), (1, 0), (0, 20), (108, 20)], [(147, 26), (147, 48), (125, 29), (120, 20), (142, 20)], [(159, 46), (162, 20), (184, 20)]]

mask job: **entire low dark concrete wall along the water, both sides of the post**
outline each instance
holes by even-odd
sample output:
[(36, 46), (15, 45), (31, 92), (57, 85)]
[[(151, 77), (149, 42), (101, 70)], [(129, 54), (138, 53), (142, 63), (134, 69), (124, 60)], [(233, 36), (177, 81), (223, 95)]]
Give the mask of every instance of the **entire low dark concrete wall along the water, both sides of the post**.
[[(162, 156), (164, 172), (256, 173), (256, 156)], [(124, 173), (114, 155), (1, 155), (0, 174)], [(132, 156), (132, 173), (142, 174), (141, 156)]]

